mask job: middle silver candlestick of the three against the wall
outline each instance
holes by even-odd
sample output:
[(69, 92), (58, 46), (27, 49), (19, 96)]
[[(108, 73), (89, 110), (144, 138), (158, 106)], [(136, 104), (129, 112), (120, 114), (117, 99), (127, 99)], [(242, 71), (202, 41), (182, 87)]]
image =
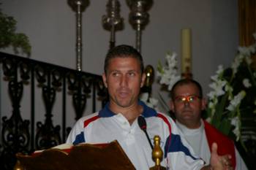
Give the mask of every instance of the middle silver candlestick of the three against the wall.
[(120, 16), (120, 3), (118, 0), (109, 0), (107, 15), (102, 16), (103, 27), (110, 31), (110, 49), (115, 47), (115, 32), (123, 28), (123, 18)]

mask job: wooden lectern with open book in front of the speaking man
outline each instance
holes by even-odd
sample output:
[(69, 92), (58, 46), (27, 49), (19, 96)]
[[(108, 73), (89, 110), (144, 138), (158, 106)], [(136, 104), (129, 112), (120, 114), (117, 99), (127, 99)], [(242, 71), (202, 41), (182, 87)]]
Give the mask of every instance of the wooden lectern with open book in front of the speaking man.
[(117, 141), (48, 149), (34, 155), (18, 153), (17, 158), (15, 170), (135, 170)]

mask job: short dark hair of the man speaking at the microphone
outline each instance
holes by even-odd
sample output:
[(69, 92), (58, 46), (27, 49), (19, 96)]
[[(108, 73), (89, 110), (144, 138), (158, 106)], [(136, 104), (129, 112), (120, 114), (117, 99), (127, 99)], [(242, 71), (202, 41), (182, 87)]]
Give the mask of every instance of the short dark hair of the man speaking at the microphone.
[(105, 63), (104, 63), (104, 71), (105, 74), (107, 74), (108, 65), (110, 62), (110, 59), (112, 58), (136, 58), (140, 63), (140, 71), (143, 73), (144, 71), (144, 65), (143, 65), (143, 58), (134, 47), (129, 45), (118, 45), (116, 47), (113, 47), (111, 50), (108, 51)]

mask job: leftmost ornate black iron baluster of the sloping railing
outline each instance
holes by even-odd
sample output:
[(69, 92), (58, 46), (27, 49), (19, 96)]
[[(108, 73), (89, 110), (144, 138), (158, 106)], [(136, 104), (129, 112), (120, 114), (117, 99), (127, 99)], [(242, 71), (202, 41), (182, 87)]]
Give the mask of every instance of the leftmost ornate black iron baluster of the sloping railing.
[[(18, 64), (20, 63), (20, 64)], [(10, 118), (2, 118), (1, 139), (3, 145), (1, 147), (0, 159), (4, 163), (3, 169), (10, 169), (14, 166), (16, 158), (15, 153), (29, 153), (29, 120), (23, 120), (20, 115), (20, 100), (23, 96), (23, 81), (18, 82), (18, 67), (24, 71), (20, 73), (21, 80), (26, 80), (25, 74), (29, 73), (23, 69), (24, 63), (18, 62), (15, 59), (3, 60), (3, 70), (5, 80), (8, 82), (8, 92), (12, 103), (12, 114)]]

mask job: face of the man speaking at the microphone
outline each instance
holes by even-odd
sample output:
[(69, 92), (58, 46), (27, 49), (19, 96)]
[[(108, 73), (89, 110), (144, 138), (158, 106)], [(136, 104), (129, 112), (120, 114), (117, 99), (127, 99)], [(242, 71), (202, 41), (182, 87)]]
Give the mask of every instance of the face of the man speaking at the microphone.
[(140, 72), (140, 63), (136, 58), (110, 59), (107, 73), (102, 78), (108, 88), (112, 107), (131, 107), (137, 104), (145, 74)]

